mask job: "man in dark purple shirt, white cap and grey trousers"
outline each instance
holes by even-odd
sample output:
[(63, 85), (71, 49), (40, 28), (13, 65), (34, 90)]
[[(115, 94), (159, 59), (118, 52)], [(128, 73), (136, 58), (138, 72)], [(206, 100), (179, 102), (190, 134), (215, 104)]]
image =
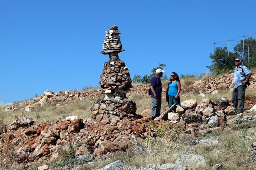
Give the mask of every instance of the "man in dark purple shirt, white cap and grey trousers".
[(163, 76), (164, 70), (158, 68), (156, 75), (150, 80), (151, 89), (151, 119), (155, 119), (160, 116), (161, 104), (162, 104), (162, 83), (161, 77)]

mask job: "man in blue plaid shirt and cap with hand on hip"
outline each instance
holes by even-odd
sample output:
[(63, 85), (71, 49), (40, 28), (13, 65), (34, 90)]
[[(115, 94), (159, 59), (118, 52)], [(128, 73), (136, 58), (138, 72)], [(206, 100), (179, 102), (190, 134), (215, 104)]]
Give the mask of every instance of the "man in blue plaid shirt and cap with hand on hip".
[(234, 108), (238, 107), (236, 114), (239, 114), (244, 112), (245, 88), (246, 83), (249, 82), (249, 79), (251, 77), (251, 72), (246, 66), (242, 65), (242, 58), (234, 59), (234, 61), (236, 67), (234, 72), (234, 90), (232, 93), (232, 103)]

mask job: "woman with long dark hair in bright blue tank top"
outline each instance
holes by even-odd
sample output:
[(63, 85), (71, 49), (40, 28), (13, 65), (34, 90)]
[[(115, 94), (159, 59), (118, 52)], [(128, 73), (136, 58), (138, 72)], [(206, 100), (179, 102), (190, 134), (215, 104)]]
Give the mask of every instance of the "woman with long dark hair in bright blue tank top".
[(181, 81), (177, 73), (172, 72), (166, 91), (166, 101), (171, 107), (173, 104), (181, 105)]

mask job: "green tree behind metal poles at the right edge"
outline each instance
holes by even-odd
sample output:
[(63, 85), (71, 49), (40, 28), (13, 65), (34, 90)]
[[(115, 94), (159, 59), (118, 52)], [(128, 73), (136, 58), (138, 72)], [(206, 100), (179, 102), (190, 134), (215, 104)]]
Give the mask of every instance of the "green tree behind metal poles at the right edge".
[[(248, 59), (248, 46), (249, 46), (249, 67), (255, 67), (256, 64), (256, 40), (253, 38), (245, 39), (244, 41), (244, 65), (247, 65)], [(240, 41), (235, 47), (234, 51), (243, 57), (243, 40)]]

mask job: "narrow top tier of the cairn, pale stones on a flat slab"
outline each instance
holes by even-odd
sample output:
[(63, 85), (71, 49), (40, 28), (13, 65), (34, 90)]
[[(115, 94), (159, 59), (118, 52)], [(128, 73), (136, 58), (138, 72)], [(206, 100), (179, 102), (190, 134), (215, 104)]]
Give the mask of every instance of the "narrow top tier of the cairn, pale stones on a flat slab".
[(118, 56), (118, 53), (124, 51), (119, 34), (121, 33), (116, 25), (111, 26), (110, 29), (106, 31), (105, 41), (102, 45), (102, 54), (109, 54), (109, 57), (111, 57)]

